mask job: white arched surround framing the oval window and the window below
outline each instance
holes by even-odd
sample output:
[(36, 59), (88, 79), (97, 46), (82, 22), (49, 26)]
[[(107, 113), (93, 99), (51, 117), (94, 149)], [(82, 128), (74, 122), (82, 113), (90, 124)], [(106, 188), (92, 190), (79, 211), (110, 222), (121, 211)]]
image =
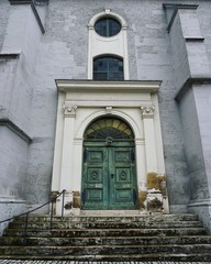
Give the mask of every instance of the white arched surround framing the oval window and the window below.
[[(95, 31), (95, 23), (104, 16), (114, 18), (122, 26), (121, 31), (110, 37), (99, 35)], [(88, 52), (88, 79), (92, 79), (93, 76), (93, 58), (98, 56), (113, 55), (123, 58), (124, 79), (129, 80), (129, 54), (127, 54), (127, 36), (126, 29), (127, 23), (124, 18), (111, 9), (104, 9), (91, 18), (88, 23), (89, 29), (89, 52)]]

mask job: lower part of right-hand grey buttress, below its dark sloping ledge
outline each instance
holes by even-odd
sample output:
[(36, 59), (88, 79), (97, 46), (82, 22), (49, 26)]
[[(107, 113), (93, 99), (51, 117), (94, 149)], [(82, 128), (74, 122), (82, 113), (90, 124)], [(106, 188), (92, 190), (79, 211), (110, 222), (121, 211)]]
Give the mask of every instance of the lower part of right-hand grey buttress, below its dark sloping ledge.
[[(211, 230), (211, 116), (207, 109), (211, 107), (211, 87), (210, 85), (195, 85), (191, 94), (192, 110), (186, 114), (185, 135), (187, 136), (187, 147), (189, 152), (191, 204), (189, 211), (198, 213), (204, 226)], [(188, 100), (186, 97), (185, 100)], [(184, 105), (184, 103), (181, 103)], [(189, 103), (190, 106), (190, 103)], [(185, 113), (185, 112), (184, 112)], [(190, 130), (187, 129), (190, 127)], [(199, 134), (198, 138), (195, 134)], [(196, 141), (196, 139), (199, 139)], [(192, 139), (192, 140), (191, 140)], [(193, 150), (191, 150), (193, 148)]]

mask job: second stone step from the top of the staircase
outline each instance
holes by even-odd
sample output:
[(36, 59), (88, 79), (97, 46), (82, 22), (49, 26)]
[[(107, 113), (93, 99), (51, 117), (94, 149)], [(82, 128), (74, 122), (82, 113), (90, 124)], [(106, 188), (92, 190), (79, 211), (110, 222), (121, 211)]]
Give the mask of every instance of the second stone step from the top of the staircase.
[[(29, 222), (29, 229), (49, 229), (49, 222)], [(151, 229), (151, 228), (202, 228), (202, 223), (199, 221), (171, 221), (171, 222), (156, 222), (156, 221), (133, 221), (133, 222), (71, 222), (60, 221), (52, 222), (53, 229)], [(10, 229), (24, 229), (24, 222), (12, 222), (9, 226)]]

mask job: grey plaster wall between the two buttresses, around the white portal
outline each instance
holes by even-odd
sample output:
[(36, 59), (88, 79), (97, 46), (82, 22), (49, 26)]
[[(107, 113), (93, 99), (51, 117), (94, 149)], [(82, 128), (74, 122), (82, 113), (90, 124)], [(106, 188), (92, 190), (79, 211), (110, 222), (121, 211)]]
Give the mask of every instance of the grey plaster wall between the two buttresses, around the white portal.
[[(138, 13), (136, 13), (138, 7)], [(104, 8), (123, 15), (129, 24), (130, 79), (160, 79), (159, 108), (162, 116), (166, 170), (170, 202), (188, 201), (186, 161), (177, 105), (174, 101), (173, 63), (166, 18), (160, 1), (56, 1), (47, 7), (46, 33), (36, 57), (36, 79), (32, 105), (34, 143), (27, 167), (36, 193), (47, 198), (51, 183), (53, 144), (56, 122), (57, 91), (54, 79), (87, 79), (89, 20)], [(142, 15), (140, 15), (142, 13)], [(159, 22), (159, 23), (158, 23)], [(78, 28), (78, 25), (80, 25)], [(77, 43), (77, 44), (76, 44)], [(168, 109), (168, 110), (166, 110)], [(41, 142), (36, 143), (36, 142)], [(47, 161), (47, 163), (46, 163)], [(46, 165), (48, 164), (48, 165)], [(38, 167), (40, 174), (36, 173)], [(45, 187), (41, 184), (45, 179)], [(30, 184), (29, 184), (30, 185)], [(43, 191), (43, 189), (45, 189)], [(40, 198), (32, 199), (33, 202)]]

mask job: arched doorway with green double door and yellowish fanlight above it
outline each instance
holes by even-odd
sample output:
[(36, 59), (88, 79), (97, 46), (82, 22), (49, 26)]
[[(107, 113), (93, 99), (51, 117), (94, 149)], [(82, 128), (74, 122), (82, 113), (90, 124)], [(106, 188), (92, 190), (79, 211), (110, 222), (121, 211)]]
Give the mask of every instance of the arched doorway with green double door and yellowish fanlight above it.
[(81, 208), (135, 209), (135, 145), (129, 124), (115, 117), (103, 117), (87, 128), (84, 139)]

